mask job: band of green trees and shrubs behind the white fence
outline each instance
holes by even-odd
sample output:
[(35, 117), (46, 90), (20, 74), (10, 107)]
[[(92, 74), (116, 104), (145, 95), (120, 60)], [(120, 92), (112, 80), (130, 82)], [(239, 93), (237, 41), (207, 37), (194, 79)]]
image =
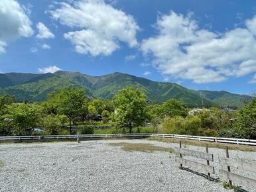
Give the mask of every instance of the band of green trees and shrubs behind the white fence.
[[(170, 99), (149, 105), (139, 89), (121, 89), (112, 100), (93, 99), (84, 89), (54, 91), (46, 101), (17, 103), (15, 97), (0, 97), (0, 135), (92, 134), (88, 124), (112, 127), (111, 132), (156, 132), (256, 138), (256, 99), (239, 111), (216, 107), (188, 115), (188, 107)], [(36, 128), (45, 128), (36, 133)]]

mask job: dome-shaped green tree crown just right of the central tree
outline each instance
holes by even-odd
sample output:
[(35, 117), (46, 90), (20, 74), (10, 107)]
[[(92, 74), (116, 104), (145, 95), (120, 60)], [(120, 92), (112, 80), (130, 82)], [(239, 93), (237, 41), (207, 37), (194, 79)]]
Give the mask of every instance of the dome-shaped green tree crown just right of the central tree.
[(186, 107), (180, 103), (180, 101), (177, 101), (176, 99), (170, 99), (162, 103), (159, 112), (160, 117), (186, 117), (188, 111)]

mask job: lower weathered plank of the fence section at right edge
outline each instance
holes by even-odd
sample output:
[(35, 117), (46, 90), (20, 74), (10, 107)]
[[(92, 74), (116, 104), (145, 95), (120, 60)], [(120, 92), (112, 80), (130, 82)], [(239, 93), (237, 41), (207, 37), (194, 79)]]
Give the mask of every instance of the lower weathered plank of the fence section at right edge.
[(256, 189), (256, 180), (248, 177), (243, 177), (241, 175), (237, 175), (235, 173), (231, 173), (229, 171), (224, 171), (220, 169), (220, 177), (222, 179), (231, 180), (235, 185), (245, 185), (245, 186), (253, 186)]

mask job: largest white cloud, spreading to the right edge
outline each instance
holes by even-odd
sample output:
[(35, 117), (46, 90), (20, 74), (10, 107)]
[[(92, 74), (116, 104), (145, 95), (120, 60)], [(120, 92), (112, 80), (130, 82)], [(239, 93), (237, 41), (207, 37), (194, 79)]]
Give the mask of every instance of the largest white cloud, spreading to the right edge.
[(155, 27), (158, 34), (143, 40), (141, 50), (165, 76), (210, 83), (256, 72), (256, 17), (218, 33), (200, 28), (191, 13), (171, 12)]

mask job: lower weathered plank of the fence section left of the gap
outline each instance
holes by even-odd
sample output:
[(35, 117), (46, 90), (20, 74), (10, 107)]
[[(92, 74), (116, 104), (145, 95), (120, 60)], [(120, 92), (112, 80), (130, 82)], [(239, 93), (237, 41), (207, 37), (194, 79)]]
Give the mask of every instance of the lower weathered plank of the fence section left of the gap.
[(213, 174), (215, 173), (213, 166), (207, 166), (205, 164), (192, 162), (190, 160), (185, 160), (185, 159), (178, 158), (178, 157), (175, 158), (175, 162), (179, 163), (179, 164), (182, 164), (184, 167), (196, 169), (198, 171), (204, 171), (206, 173), (213, 173)]

